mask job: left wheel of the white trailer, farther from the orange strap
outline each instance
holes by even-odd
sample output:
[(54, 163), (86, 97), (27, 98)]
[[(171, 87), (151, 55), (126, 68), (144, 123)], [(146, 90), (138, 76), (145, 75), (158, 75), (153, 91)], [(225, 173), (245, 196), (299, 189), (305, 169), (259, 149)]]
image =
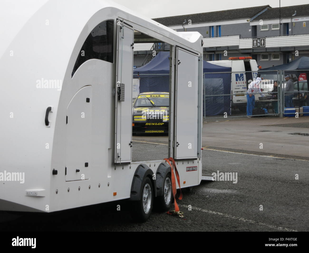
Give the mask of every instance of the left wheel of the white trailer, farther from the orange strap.
[(149, 177), (142, 182), (141, 199), (132, 201), (131, 216), (134, 221), (145, 222), (151, 214), (154, 200), (154, 192)]

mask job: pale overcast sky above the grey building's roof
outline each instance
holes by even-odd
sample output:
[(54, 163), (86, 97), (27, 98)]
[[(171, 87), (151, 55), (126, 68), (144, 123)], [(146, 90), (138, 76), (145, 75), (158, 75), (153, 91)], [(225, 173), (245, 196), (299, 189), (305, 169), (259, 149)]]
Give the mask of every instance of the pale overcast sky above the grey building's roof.
[[(270, 5), (271, 7), (279, 7), (279, 0), (113, 0), (122, 4), (129, 9), (140, 12), (142, 15), (151, 19), (167, 16), (185, 15), (209, 11), (222, 11), (229, 9), (246, 8), (253, 6)], [(291, 6), (308, 4), (308, 0), (281, 0), (281, 6)], [(236, 13), (235, 13), (236, 15)], [(241, 13), (238, 13), (241, 19)]]

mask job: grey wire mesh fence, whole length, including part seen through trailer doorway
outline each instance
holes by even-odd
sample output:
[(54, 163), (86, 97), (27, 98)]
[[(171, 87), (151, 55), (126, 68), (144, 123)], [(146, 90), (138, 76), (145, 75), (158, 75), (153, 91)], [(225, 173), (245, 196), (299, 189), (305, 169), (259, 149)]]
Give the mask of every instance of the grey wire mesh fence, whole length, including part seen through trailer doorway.
[[(203, 116), (309, 115), (308, 75), (308, 70), (203, 73)], [(133, 74), (133, 102), (142, 92), (169, 92), (169, 75)]]

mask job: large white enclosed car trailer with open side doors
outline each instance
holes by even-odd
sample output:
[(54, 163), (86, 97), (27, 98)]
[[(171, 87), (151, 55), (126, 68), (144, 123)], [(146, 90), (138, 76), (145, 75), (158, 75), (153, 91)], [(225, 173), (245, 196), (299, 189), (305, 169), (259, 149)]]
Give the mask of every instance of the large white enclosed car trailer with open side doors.
[(171, 45), (166, 157), (176, 161), (181, 188), (198, 185), (202, 36), (114, 2), (26, 4), (2, 8), (0, 210), (54, 212), (130, 199), (133, 216), (146, 220), (154, 198), (162, 210), (170, 207), (168, 163), (131, 159), (133, 47), (141, 42)]

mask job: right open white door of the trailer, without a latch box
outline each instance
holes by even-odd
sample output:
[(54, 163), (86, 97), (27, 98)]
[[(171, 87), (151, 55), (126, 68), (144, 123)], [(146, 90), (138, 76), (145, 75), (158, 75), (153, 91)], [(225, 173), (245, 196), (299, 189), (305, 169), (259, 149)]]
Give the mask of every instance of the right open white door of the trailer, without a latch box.
[(175, 159), (198, 156), (198, 60), (198, 55), (176, 48)]

